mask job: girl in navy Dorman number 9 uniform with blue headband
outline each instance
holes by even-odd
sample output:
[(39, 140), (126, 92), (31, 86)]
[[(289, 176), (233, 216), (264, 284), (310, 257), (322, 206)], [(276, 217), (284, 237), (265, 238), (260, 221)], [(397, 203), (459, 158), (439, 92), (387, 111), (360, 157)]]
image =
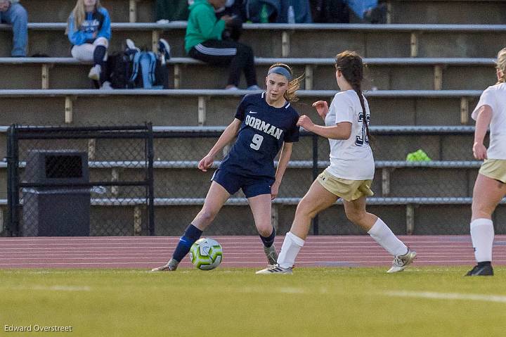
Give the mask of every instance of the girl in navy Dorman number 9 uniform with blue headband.
[[(211, 224), (223, 204), (239, 189), (245, 193), (254, 222), (264, 243), (268, 263), (277, 258), (275, 230), (271, 224), (271, 201), (278, 195), (292, 144), (299, 140), (299, 114), (291, 105), (297, 100), (299, 78), (292, 78), (288, 65), (276, 63), (269, 68), (266, 91), (246, 95), (240, 102), (233, 122), (221, 134), (209, 153), (200, 160), (198, 168), (204, 172), (212, 166), (214, 157), (235, 136), (237, 141), (214, 172), (204, 206), (179, 240), (171, 260), (153, 271), (176, 270), (190, 247)], [(280, 152), (278, 169), (274, 158)]]

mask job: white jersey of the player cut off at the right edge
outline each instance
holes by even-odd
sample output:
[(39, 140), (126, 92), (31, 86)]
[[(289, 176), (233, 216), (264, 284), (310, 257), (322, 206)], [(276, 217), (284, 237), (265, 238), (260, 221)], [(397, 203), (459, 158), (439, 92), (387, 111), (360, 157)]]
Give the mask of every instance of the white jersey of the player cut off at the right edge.
[(489, 159), (506, 159), (506, 84), (495, 84), (488, 87), (476, 105), (471, 117), (478, 118), (478, 110), (481, 106), (492, 108), (492, 120), (490, 126), (490, 145), (487, 149)]

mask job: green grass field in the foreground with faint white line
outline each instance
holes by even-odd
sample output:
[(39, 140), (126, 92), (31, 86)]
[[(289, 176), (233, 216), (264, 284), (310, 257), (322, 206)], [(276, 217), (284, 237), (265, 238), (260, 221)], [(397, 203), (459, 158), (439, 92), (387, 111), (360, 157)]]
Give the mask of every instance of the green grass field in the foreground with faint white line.
[(506, 267), (467, 269), (4, 269), (0, 336), (505, 336)]

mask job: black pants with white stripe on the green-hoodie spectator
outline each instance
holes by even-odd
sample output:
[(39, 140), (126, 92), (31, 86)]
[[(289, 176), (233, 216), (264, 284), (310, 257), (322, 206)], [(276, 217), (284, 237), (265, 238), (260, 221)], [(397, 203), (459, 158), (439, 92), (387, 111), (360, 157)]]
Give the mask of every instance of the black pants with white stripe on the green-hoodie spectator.
[[(190, 49), (188, 55), (214, 65), (230, 67), (227, 87), (238, 87), (244, 69), (248, 87), (257, 84), (253, 51), (249, 46), (234, 41), (207, 40)], [(246, 70), (246, 67), (249, 68)]]

